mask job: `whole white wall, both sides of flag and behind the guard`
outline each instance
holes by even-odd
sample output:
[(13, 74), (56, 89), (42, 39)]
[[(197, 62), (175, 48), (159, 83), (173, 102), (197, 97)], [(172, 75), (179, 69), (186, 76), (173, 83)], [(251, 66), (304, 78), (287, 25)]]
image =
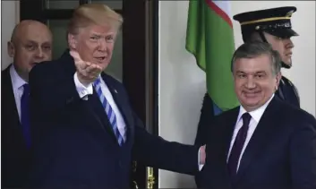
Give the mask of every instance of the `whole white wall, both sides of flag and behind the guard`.
[[(159, 134), (167, 140), (192, 144), (206, 91), (205, 74), (185, 48), (188, 1), (159, 2)], [(232, 13), (295, 5), (294, 67), (285, 75), (295, 82), (303, 109), (315, 113), (315, 2), (232, 2)], [(308, 21), (308, 22), (307, 22)], [(233, 21), (235, 45), (242, 44), (240, 25)], [(307, 82), (308, 81), (308, 82)], [(195, 187), (192, 176), (159, 170), (160, 188)]]

